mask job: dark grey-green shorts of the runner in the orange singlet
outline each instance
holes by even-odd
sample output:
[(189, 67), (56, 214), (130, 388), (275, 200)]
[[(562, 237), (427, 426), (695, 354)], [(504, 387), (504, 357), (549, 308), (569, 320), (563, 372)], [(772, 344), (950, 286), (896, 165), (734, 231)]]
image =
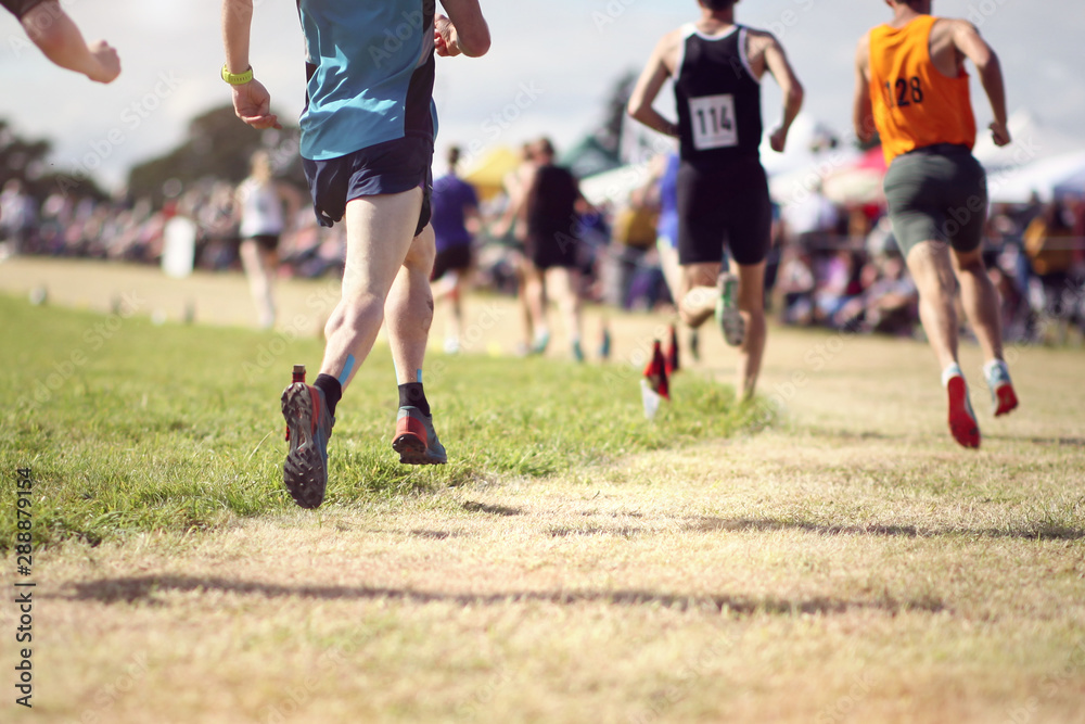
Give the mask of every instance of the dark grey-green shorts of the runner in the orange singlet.
[(893, 160), (885, 172), (885, 202), (905, 259), (921, 241), (970, 252), (983, 241), (987, 177), (966, 145), (939, 143)]

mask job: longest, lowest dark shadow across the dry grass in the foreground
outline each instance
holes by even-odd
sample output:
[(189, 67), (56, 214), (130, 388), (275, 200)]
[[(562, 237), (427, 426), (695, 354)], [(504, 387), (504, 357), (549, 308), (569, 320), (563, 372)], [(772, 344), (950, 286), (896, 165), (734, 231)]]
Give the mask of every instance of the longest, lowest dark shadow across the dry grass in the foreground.
[(753, 615), (840, 614), (854, 610), (902, 611), (946, 610), (945, 602), (930, 596), (899, 600), (885, 595), (870, 600), (847, 600), (829, 596), (812, 598), (753, 598), (726, 594), (682, 596), (651, 590), (519, 590), (506, 593), (450, 593), (370, 586), (288, 586), (263, 581), (188, 575), (141, 575), (100, 579), (68, 584), (69, 590), (47, 598), (99, 604), (164, 605), (156, 598), (170, 593), (225, 593), (264, 598), (309, 598), (319, 600), (392, 600), (405, 604), (454, 604), (456, 606), (501, 606), (508, 604), (608, 604), (611, 606), (662, 607), (678, 611), (706, 611)]

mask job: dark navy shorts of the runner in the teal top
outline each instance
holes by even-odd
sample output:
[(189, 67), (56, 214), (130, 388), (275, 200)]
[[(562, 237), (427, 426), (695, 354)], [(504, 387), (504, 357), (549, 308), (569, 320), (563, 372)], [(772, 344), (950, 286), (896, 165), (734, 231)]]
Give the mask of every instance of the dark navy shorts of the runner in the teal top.
[(337, 158), (303, 158), (305, 178), (312, 194), (312, 208), (320, 226), (343, 219), (346, 204), (362, 196), (403, 193), (422, 189), (422, 209), (417, 237), (430, 223), (430, 195), (433, 192), (433, 140), (418, 136), (397, 138), (348, 153)]

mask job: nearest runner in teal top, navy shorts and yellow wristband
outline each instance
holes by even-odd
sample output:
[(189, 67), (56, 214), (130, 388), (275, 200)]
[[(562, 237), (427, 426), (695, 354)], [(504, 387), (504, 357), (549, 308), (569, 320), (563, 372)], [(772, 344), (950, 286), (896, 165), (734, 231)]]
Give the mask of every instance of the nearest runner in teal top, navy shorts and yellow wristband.
[[(283, 483), (303, 508), (328, 484), (328, 439), (343, 391), (372, 350), (387, 314), (399, 384), (392, 446), (407, 465), (447, 460), (422, 389), (433, 319), (430, 164), (436, 130), (434, 54), (484, 54), (489, 29), (478, 0), (297, 0), (306, 46), (301, 154), (317, 218), (346, 223), (343, 294), (324, 327), (320, 373), (304, 367), (281, 397), (290, 442)], [(233, 107), (254, 128), (278, 127), (248, 60), (253, 0), (224, 0)], [(297, 366), (301, 367), (301, 366)]]

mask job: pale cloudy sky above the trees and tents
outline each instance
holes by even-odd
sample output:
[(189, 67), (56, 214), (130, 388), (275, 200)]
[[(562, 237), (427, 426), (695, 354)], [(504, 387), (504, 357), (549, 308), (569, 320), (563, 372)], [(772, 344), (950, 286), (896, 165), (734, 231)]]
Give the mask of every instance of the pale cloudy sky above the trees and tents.
[[(218, 0), (66, 0), (88, 39), (105, 38), (124, 71), (110, 86), (52, 66), (0, 11), (0, 118), (53, 142), (58, 170), (90, 173), (116, 188), (135, 163), (177, 145), (188, 122), (229, 103)], [(272, 106), (296, 119), (303, 42), (292, 0), (256, 0), (251, 59)], [(434, 98), (441, 150), (515, 145), (547, 134), (559, 149), (598, 127), (607, 96), (639, 72), (656, 40), (699, 14), (695, 0), (482, 0), (493, 47), (481, 59), (438, 59)], [(998, 52), (1010, 112), (1082, 138), (1085, 147), (1085, 3), (935, 0), (934, 12), (971, 18)], [(742, 0), (738, 22), (771, 30), (806, 88), (804, 112), (837, 132), (851, 125), (858, 38), (886, 21), (880, 0)], [(780, 117), (768, 80), (766, 124)], [(991, 119), (973, 77), (973, 105)], [(673, 115), (669, 97), (658, 107)], [(240, 123), (240, 120), (239, 120)]]

